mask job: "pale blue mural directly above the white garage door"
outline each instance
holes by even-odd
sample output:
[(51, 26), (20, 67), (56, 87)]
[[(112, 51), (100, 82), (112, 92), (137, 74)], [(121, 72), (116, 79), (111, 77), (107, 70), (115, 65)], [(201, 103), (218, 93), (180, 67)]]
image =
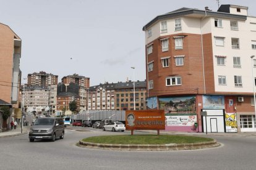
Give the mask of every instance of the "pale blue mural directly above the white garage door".
[(223, 95), (203, 95), (204, 109), (224, 109)]

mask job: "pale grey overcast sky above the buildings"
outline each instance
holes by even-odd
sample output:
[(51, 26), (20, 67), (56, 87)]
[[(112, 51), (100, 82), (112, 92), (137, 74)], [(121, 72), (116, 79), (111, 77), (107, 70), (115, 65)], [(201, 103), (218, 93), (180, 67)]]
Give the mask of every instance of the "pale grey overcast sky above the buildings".
[[(220, 0), (249, 7), (255, 0)], [(157, 15), (181, 7), (218, 10), (216, 0), (0, 0), (0, 22), (22, 39), (20, 69), (90, 78), (90, 86), (145, 79), (145, 33)], [(22, 83), (25, 83), (23, 80)]]

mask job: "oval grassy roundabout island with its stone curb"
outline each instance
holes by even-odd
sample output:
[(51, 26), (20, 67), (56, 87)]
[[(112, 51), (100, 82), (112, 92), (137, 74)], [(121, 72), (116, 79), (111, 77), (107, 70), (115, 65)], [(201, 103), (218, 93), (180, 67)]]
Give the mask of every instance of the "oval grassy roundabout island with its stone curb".
[[(87, 139), (83, 139), (79, 141), (80, 147), (86, 147), (86, 148), (96, 148), (96, 149), (104, 149), (104, 150), (123, 150), (123, 151), (171, 151), (171, 150), (195, 150), (195, 149), (203, 149), (203, 148), (213, 148), (213, 147), (219, 147), (220, 144), (216, 142), (214, 139), (210, 138), (204, 138), (204, 137), (194, 137), (194, 136), (175, 136), (175, 135), (163, 135), (163, 136), (141, 136), (143, 140), (135, 140), (140, 139), (140, 136), (135, 135), (136, 137), (132, 140), (134, 140), (135, 144), (132, 144), (132, 140), (126, 140), (129, 136), (100, 136), (100, 137), (89, 137)], [(114, 140), (115, 142), (108, 142), (108, 137), (112, 138), (111, 140)], [(116, 137), (116, 139), (115, 139)], [(134, 137), (134, 136), (130, 136)], [(176, 143), (166, 142), (166, 140), (163, 140), (161, 138), (165, 139), (173, 139)], [(150, 144), (145, 144), (147, 142)], [(105, 140), (107, 139), (107, 140)], [(185, 140), (184, 140), (185, 139)], [(100, 143), (96, 142), (87, 142), (87, 141), (102, 141)], [(109, 140), (109, 141), (111, 141)], [(119, 142), (118, 142), (119, 141)], [(172, 140), (169, 140), (172, 141)], [(186, 142), (183, 142), (186, 141)], [(201, 141), (201, 142), (198, 142)], [(102, 143), (105, 144), (102, 144)], [(108, 142), (108, 144), (106, 144)], [(153, 144), (155, 142), (155, 144)], [(166, 142), (166, 144), (163, 144)], [(117, 144), (121, 143), (121, 144)], [(126, 144), (130, 143), (130, 144)], [(138, 144), (143, 143), (143, 144)], [(158, 144), (161, 143), (161, 144)]]

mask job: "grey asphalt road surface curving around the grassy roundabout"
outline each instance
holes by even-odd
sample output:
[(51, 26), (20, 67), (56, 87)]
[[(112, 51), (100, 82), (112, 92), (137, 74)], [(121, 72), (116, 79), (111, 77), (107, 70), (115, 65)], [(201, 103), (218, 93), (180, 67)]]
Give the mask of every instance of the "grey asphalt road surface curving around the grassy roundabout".
[(80, 148), (75, 144), (89, 136), (129, 132), (72, 128), (66, 129), (64, 139), (55, 142), (29, 142), (28, 135), (1, 138), (0, 169), (255, 169), (255, 136), (213, 136), (223, 145), (203, 150), (122, 152)]

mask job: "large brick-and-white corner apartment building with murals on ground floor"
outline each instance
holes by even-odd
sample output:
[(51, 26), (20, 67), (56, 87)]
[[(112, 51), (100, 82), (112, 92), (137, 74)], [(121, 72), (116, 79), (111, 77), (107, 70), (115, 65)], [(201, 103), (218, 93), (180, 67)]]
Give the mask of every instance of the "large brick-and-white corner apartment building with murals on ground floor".
[(166, 111), (166, 130), (256, 131), (256, 18), (247, 10), (181, 8), (143, 26), (148, 108)]

